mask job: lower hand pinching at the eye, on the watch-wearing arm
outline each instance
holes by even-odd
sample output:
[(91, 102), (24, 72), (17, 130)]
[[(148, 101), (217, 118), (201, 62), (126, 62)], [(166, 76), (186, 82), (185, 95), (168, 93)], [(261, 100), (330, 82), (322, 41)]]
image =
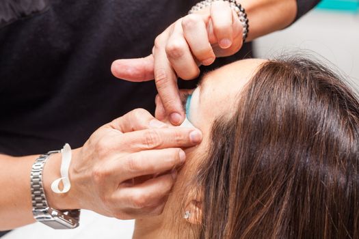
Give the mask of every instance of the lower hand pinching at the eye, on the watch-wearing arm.
[(105, 124), (72, 152), (74, 207), (118, 219), (160, 214), (185, 162), (181, 147), (201, 140), (200, 130), (168, 128), (144, 109)]

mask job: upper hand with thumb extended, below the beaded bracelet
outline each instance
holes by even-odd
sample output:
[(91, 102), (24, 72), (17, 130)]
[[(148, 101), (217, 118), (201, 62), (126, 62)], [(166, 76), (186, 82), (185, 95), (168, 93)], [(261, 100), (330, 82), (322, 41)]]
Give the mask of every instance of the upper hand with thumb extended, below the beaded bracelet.
[(178, 94), (177, 76), (195, 79), (198, 66), (210, 65), (215, 57), (237, 53), (242, 46), (242, 25), (226, 1), (178, 19), (157, 36), (152, 54), (138, 59), (114, 61), (114, 76), (128, 81), (155, 79), (159, 97), (174, 125), (185, 112)]

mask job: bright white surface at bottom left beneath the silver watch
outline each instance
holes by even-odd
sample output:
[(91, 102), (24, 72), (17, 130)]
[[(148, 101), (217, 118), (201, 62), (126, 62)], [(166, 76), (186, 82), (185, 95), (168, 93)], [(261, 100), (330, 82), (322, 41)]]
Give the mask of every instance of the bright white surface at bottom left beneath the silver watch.
[(133, 220), (120, 221), (88, 210), (82, 210), (80, 226), (75, 229), (55, 230), (42, 223), (34, 223), (15, 229), (1, 239), (130, 239), (132, 238), (133, 226)]

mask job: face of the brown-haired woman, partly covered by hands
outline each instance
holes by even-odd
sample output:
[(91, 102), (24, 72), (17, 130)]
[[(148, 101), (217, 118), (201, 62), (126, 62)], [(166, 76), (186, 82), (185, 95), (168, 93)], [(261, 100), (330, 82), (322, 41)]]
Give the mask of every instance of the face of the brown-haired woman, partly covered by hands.
[[(258, 66), (264, 61), (263, 59), (236, 61), (203, 76), (200, 84), (192, 93), (189, 109), (187, 109), (189, 112), (187, 118), (203, 133), (202, 143), (185, 150), (186, 163), (178, 172), (178, 178), (163, 213), (155, 218), (136, 220), (136, 228), (156, 228), (158, 225), (168, 225), (169, 223), (165, 222), (173, 219), (174, 216), (180, 218), (183, 216), (182, 212), (178, 212), (178, 208), (186, 206), (183, 205), (183, 198), (188, 196), (188, 192), (183, 188), (193, 186), (190, 180), (193, 175), (196, 175), (201, 157), (207, 152), (213, 121), (218, 116), (228, 115), (229, 117), (235, 113), (236, 99), (241, 93), (241, 89), (252, 79)], [(161, 106), (157, 105), (157, 107)], [(171, 228), (162, 228), (162, 230), (171, 230)]]

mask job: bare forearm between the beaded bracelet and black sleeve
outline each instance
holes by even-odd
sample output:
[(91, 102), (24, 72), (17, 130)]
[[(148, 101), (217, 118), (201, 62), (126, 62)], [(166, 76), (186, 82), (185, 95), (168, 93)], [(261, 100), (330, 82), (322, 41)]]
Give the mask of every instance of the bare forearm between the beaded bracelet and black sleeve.
[(278, 31), (293, 23), (297, 14), (295, 0), (241, 0), (248, 15), (248, 41)]

